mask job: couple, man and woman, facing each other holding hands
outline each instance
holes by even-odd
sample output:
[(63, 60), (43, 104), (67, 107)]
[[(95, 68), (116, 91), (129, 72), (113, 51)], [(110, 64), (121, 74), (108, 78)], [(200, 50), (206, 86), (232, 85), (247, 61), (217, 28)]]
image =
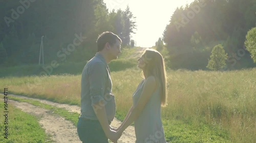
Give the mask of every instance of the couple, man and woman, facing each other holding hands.
[(162, 55), (147, 49), (138, 59), (143, 79), (132, 95), (133, 105), (117, 129), (111, 127), (116, 103), (108, 63), (121, 53), (122, 40), (111, 32), (97, 39), (97, 53), (84, 66), (81, 77), (81, 113), (77, 132), (83, 143), (117, 143), (122, 132), (134, 122), (136, 143), (166, 143), (161, 105), (166, 104), (166, 75)]

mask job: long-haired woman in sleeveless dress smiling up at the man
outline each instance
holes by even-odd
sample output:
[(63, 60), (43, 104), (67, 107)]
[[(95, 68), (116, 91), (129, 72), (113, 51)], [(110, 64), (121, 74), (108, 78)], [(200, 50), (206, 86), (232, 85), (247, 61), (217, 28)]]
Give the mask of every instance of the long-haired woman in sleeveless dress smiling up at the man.
[(164, 60), (158, 51), (147, 49), (138, 62), (144, 78), (133, 94), (133, 106), (116, 130), (121, 134), (134, 122), (136, 143), (165, 143), (161, 121), (161, 105), (165, 106), (167, 98)]

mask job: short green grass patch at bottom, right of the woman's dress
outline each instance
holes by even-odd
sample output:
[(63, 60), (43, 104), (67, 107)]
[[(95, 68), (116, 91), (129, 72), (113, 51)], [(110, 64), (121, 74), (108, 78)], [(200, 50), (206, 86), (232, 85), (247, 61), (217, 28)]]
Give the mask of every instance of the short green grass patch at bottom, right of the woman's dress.
[(231, 142), (227, 131), (207, 124), (184, 123), (180, 120), (163, 120), (166, 141), (172, 143)]

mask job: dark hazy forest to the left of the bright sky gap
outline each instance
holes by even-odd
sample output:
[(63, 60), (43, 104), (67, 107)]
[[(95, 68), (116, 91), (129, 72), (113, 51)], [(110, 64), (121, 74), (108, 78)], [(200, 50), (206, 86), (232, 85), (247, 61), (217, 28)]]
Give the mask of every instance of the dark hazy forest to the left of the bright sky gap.
[(42, 36), (45, 63), (82, 62), (94, 56), (100, 33), (111, 31), (129, 46), (136, 30), (129, 6), (109, 11), (103, 0), (0, 1), (0, 17), (4, 66), (38, 63)]

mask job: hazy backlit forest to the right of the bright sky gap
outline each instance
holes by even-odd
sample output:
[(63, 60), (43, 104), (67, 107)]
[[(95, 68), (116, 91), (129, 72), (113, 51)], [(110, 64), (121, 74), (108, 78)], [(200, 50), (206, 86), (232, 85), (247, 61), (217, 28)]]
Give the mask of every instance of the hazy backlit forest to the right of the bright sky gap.
[(255, 12), (256, 0), (196, 0), (177, 8), (161, 38), (169, 51), (169, 66), (206, 69), (212, 48), (221, 44), (227, 69), (253, 67), (245, 41), (255, 27)]

